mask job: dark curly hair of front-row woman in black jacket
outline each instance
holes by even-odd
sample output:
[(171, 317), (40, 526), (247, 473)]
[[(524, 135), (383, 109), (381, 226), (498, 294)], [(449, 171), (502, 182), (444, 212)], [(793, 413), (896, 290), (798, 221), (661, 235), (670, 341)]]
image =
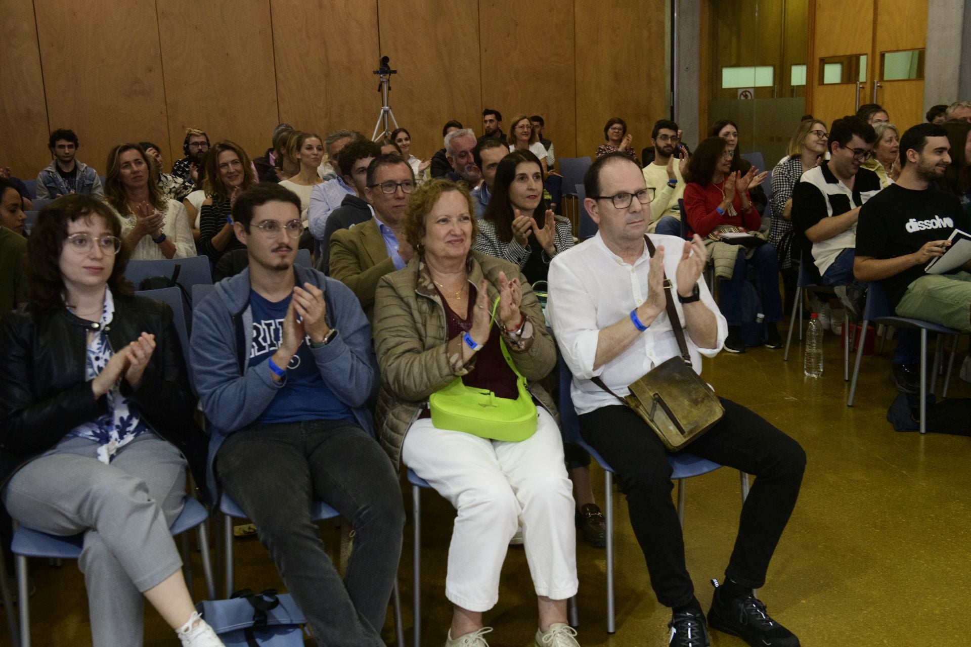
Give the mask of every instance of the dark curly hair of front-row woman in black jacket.
[[(32, 307), (50, 311), (64, 306), (64, 277), (60, 272), (60, 256), (67, 240), (68, 222), (80, 218), (90, 221), (101, 216), (116, 238), (121, 238), (121, 223), (111, 208), (97, 198), (84, 194), (57, 198), (37, 216), (37, 223), (27, 239), (27, 296)], [(124, 277), (131, 250), (121, 245), (115, 255), (115, 267), (108, 277), (108, 287), (114, 294), (132, 295), (134, 288)]]

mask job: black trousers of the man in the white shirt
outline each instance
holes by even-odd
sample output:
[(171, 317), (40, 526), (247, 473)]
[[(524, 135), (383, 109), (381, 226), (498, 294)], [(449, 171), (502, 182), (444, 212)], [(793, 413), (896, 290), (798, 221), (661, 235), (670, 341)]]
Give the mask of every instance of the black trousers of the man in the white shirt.
[[(798, 442), (749, 409), (720, 401), (724, 417), (684, 451), (755, 476), (725, 575), (757, 589), (765, 583), (769, 560), (799, 496), (806, 454)], [(620, 404), (581, 415), (580, 432), (617, 472), (657, 601), (665, 606), (687, 604), (694, 588), (685, 566), (678, 511), (671, 501), (674, 485), (664, 445), (640, 416)]]

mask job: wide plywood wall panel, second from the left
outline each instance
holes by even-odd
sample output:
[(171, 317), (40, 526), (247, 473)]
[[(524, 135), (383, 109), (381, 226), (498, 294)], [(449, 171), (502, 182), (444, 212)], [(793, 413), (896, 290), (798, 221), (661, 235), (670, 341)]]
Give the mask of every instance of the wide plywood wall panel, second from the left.
[(165, 146), (154, 0), (113, 0), (99, 11), (70, 0), (38, 0), (35, 10), (50, 129), (78, 134), (78, 159), (105, 175), (108, 150), (116, 144), (157, 140)]

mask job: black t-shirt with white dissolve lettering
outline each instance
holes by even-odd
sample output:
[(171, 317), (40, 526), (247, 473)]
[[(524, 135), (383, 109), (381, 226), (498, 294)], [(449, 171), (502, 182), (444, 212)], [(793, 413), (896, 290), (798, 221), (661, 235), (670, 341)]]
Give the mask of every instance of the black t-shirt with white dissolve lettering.
[[(954, 229), (969, 231), (967, 216), (953, 193), (928, 188), (922, 191), (891, 184), (859, 211), (856, 256), (896, 258), (911, 254), (924, 243), (944, 241)], [(896, 307), (907, 286), (926, 273), (920, 263), (884, 280), (887, 298)]]

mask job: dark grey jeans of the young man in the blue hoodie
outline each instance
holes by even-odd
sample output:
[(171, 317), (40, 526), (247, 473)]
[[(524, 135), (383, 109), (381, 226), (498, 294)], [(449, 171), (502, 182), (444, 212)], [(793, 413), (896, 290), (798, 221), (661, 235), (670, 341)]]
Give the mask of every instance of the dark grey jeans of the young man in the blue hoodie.
[[(227, 437), (217, 458), (219, 481), (256, 525), (318, 643), (384, 647), (405, 511), (378, 442), (344, 420), (253, 425)], [(313, 500), (354, 530), (343, 582), (311, 521)]]

